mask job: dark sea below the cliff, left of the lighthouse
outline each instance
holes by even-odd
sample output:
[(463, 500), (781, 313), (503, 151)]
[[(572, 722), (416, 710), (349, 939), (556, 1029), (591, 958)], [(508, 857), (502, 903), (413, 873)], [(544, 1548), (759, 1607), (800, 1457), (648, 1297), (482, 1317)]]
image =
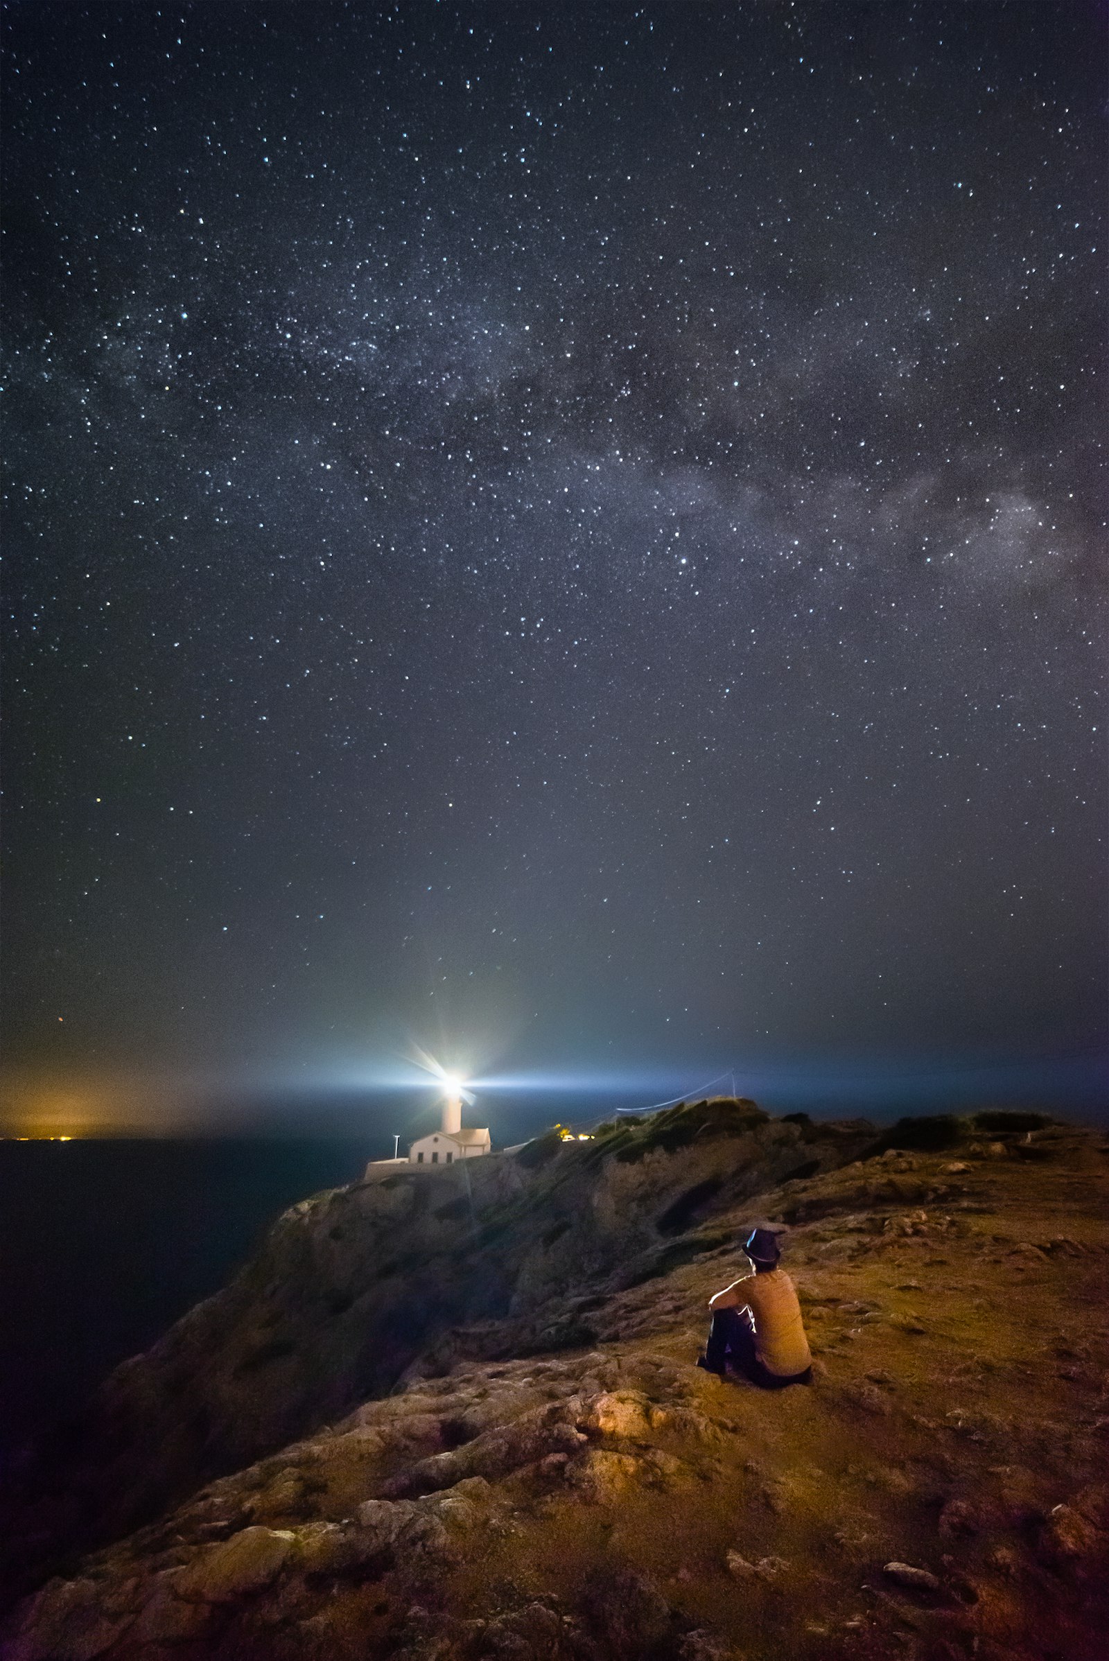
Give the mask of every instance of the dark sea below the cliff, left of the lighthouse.
[[(550, 1123), (516, 1110), (498, 1141)], [(0, 1472), (226, 1286), (282, 1211), (359, 1181), (393, 1146), (379, 1124), (329, 1136), (0, 1138)]]

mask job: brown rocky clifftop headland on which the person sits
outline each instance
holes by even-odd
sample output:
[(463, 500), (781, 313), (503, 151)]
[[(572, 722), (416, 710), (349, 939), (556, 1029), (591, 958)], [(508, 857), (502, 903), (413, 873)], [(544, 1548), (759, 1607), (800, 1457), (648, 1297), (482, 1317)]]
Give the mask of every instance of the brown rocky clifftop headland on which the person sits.
[[(898, 1149), (860, 1124), (707, 1105), (671, 1116), (669, 1133), (651, 1121), (533, 1146), (523, 1164), (480, 1161), (480, 1176), (475, 1163), (465, 1194), (420, 1191), (420, 1173), (296, 1208), (222, 1304), (121, 1370), (86, 1427), (83, 1480), (115, 1472), (131, 1487), (100, 1512), (86, 1498), (85, 1526), (111, 1533), (105, 1518), (143, 1505), (151, 1520), (65, 1561), (73, 1513), (45, 1482), (22, 1497), (20, 1573), (53, 1550), (55, 1575), (15, 1606), (0, 1653), (1104, 1656), (1109, 1158), (1092, 1133), (1019, 1123), (908, 1126), (892, 1139), (946, 1146)], [(463, 1198), (465, 1214), (438, 1216)], [(403, 1222), (412, 1208), (418, 1229)], [(815, 1357), (813, 1384), (780, 1394), (692, 1365), (707, 1297), (739, 1272), (735, 1236), (764, 1219), (789, 1224)], [(432, 1242), (428, 1229), (455, 1222), (458, 1236)], [(344, 1251), (322, 1267), (334, 1227)], [(329, 1276), (335, 1302), (352, 1291), (352, 1236), (365, 1284), (325, 1324)], [(417, 1237), (425, 1257), (393, 1269)], [(382, 1282), (423, 1299), (458, 1252), (486, 1266), (496, 1296), (470, 1307), (455, 1287), (432, 1317), (420, 1302), (405, 1342), (393, 1319), (375, 1399), (347, 1397), (325, 1422), (320, 1392), (342, 1397), (332, 1372), (357, 1390), (367, 1369), (335, 1320), (365, 1299), (364, 1319), (384, 1319)], [(274, 1330), (292, 1350), (236, 1374)], [(302, 1357), (312, 1335), (325, 1354)], [(189, 1367), (204, 1342), (201, 1389)], [(291, 1384), (297, 1405), (282, 1410)], [(234, 1460), (249, 1438), (266, 1455), (189, 1488), (198, 1442), (181, 1427), (198, 1399), (209, 1425), (249, 1412), (247, 1385), (251, 1423), (222, 1427), (211, 1458)], [(105, 1440), (110, 1410), (138, 1465)], [(158, 1437), (171, 1445), (143, 1487)], [(173, 1492), (179, 1503), (154, 1515)]]

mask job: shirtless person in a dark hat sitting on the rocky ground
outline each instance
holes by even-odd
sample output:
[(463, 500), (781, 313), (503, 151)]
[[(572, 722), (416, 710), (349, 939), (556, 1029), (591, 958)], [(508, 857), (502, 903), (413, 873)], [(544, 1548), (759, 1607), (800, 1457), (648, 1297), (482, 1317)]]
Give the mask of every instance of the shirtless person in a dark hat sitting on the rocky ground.
[(732, 1281), (709, 1299), (712, 1325), (697, 1365), (706, 1372), (742, 1374), (764, 1390), (812, 1382), (812, 1355), (794, 1282), (779, 1269), (772, 1229), (754, 1229), (744, 1241), (754, 1274)]

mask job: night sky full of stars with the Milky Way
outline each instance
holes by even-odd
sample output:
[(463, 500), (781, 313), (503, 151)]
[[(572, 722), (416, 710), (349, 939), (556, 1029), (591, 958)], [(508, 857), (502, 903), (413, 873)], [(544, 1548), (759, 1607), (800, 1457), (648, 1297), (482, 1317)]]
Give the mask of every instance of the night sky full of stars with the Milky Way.
[(8, 5), (8, 1120), (412, 1041), (1092, 1100), (1102, 61), (1099, 0)]

